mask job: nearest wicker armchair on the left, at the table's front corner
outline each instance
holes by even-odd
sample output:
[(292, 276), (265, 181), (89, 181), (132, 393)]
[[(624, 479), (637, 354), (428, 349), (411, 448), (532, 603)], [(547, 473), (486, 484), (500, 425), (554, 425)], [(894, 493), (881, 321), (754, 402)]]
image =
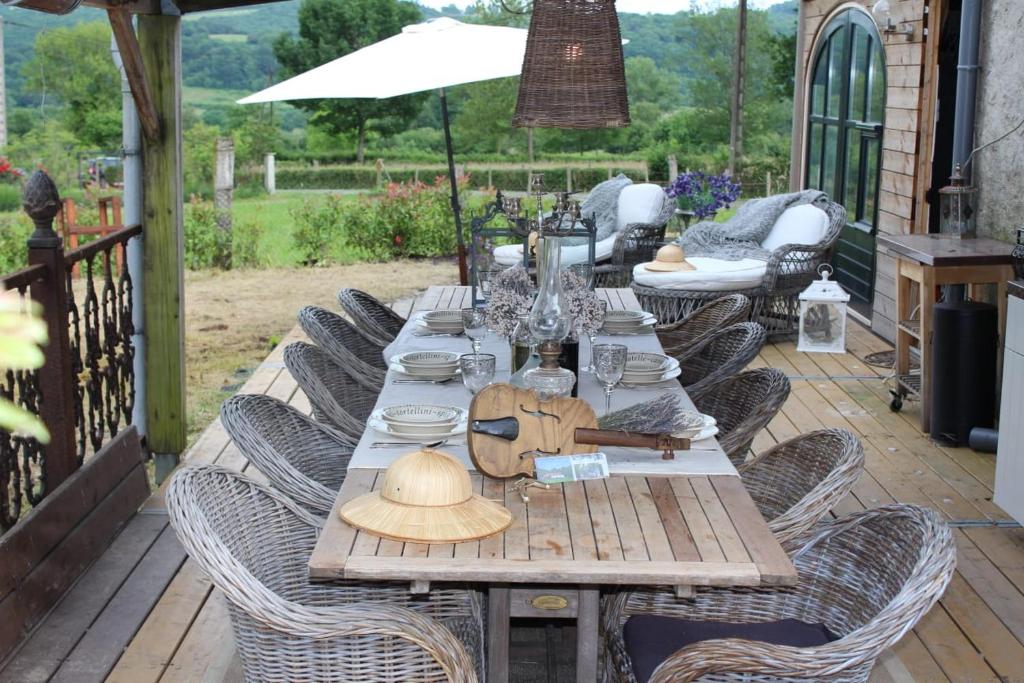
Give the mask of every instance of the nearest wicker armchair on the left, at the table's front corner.
[(479, 596), (407, 584), (308, 580), (322, 520), (215, 465), (167, 489), (181, 545), (227, 598), (247, 681), (477, 680)]

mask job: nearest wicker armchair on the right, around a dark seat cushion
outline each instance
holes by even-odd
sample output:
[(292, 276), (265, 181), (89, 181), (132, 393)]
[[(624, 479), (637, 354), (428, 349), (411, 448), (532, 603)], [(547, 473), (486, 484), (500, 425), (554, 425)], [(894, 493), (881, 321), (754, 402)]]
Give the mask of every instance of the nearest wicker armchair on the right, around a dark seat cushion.
[(793, 555), (793, 589), (636, 590), (606, 599), (603, 622), (612, 680), (635, 681), (623, 640), (633, 614), (730, 623), (796, 618), (824, 624), (839, 637), (787, 647), (742, 639), (706, 640), (677, 650), (651, 683), (673, 681), (866, 681), (874, 660), (941, 597), (956, 548), (937, 513), (909, 505), (858, 512), (816, 527)]

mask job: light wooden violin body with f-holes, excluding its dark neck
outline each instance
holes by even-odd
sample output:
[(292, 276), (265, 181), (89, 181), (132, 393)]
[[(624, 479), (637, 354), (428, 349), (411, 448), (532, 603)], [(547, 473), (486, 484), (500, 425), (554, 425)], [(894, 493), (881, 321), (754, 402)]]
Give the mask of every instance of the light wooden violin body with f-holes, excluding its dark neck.
[[(531, 414), (536, 411), (556, 417)], [(519, 422), (519, 434), (514, 440), (473, 432), (474, 420), (510, 417)], [(477, 393), (469, 405), (466, 443), (473, 465), (483, 474), (498, 478), (520, 474), (532, 476), (534, 458), (537, 456), (597, 451), (596, 445), (575, 442), (578, 427), (597, 428), (594, 409), (587, 401), (555, 398), (541, 402), (529, 389), (511, 384), (492, 384)]]

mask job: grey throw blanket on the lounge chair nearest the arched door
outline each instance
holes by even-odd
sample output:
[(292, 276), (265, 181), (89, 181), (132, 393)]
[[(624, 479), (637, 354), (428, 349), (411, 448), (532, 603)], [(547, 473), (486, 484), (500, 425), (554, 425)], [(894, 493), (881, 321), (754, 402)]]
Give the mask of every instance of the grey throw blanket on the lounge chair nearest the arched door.
[(693, 225), (679, 239), (679, 244), (687, 256), (709, 256), (726, 261), (743, 258), (767, 261), (771, 252), (765, 250), (761, 243), (783, 211), (801, 204), (816, 204), (824, 209), (826, 203), (825, 194), (817, 189), (751, 200), (724, 223), (703, 221)]

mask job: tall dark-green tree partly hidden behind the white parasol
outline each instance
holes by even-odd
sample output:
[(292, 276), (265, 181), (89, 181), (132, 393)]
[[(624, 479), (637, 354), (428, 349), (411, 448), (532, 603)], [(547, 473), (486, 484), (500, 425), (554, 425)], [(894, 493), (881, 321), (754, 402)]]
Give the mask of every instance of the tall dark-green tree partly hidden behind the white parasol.
[[(303, 0), (299, 35), (278, 37), (273, 53), (285, 76), (295, 76), (393, 36), (421, 17), (404, 0)], [(415, 58), (415, 55), (411, 55)], [(330, 132), (356, 134), (356, 161), (362, 162), (367, 131), (397, 132), (419, 113), (426, 93), (388, 99), (305, 99), (296, 106)]]

